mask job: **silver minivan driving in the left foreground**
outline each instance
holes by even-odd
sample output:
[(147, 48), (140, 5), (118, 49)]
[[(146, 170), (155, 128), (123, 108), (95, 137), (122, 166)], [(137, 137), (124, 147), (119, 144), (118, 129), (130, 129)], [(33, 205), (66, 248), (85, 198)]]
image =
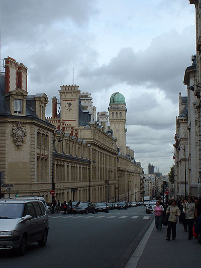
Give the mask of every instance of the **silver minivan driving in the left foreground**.
[(43, 202), (23, 197), (0, 200), (0, 252), (17, 249), (24, 255), (30, 243), (45, 246), (48, 230)]

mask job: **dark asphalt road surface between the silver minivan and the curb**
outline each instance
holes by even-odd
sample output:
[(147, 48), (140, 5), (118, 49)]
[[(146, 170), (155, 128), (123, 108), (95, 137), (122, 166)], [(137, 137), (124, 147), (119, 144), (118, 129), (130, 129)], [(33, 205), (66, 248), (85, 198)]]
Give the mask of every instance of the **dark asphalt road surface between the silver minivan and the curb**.
[(1, 268), (125, 267), (152, 220), (144, 206), (107, 214), (50, 215), (46, 247), (33, 243), (21, 257), (1, 253)]

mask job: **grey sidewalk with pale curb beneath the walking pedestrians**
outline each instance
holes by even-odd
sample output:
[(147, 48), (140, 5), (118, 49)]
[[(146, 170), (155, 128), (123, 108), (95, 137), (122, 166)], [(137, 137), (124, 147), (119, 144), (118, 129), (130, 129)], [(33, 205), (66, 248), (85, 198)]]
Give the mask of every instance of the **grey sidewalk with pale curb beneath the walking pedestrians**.
[[(165, 226), (162, 227), (161, 232), (157, 231), (155, 224), (152, 223), (145, 234), (144, 241), (142, 239), (141, 246), (139, 245), (139, 248), (137, 248), (138, 252), (134, 252), (127, 267), (201, 267), (201, 245), (197, 242), (197, 239), (192, 238), (188, 240), (188, 232), (184, 232), (183, 225), (178, 222), (176, 225), (175, 241), (171, 238), (170, 241), (165, 240), (166, 231), (167, 227)], [(149, 237), (148, 241), (146, 237)], [(145, 245), (144, 250), (143, 244)], [(140, 252), (140, 249), (143, 252), (142, 250)], [(140, 255), (141, 257), (139, 258)], [(137, 266), (135, 261), (137, 262)]]

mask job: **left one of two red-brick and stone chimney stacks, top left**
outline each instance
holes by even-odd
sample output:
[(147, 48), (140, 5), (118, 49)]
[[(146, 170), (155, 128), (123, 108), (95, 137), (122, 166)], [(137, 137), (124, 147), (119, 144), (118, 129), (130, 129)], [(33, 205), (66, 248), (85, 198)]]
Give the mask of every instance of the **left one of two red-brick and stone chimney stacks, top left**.
[(8, 57), (5, 59), (5, 94), (18, 87), (18, 62)]

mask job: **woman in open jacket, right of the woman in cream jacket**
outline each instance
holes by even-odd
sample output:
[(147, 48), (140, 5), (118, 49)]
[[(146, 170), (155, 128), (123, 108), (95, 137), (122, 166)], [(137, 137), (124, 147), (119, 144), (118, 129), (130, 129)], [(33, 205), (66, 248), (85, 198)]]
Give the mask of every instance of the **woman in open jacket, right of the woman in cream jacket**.
[(192, 238), (192, 227), (194, 225), (195, 204), (191, 196), (189, 196), (187, 200), (187, 203), (183, 207), (183, 213), (185, 214), (185, 220), (188, 226), (188, 240), (190, 240)]

